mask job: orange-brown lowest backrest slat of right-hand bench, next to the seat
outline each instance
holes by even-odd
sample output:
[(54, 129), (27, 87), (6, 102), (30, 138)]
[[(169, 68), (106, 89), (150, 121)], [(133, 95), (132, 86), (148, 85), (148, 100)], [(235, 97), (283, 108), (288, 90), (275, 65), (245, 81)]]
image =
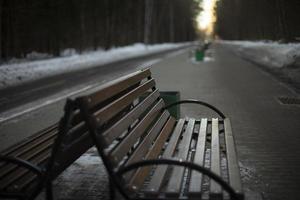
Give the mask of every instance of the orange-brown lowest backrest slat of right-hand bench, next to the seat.
[[(157, 158), (166, 142), (170, 134), (172, 133), (173, 127), (175, 125), (175, 119), (170, 117), (167, 123), (165, 124), (164, 128), (160, 132), (159, 136), (155, 140), (153, 146), (145, 156), (145, 160), (150, 160)], [(129, 186), (131, 189), (137, 190), (139, 189), (142, 184), (144, 183), (145, 178), (148, 176), (151, 167), (143, 167), (139, 168), (135, 174), (132, 176), (131, 180), (129, 181)]]

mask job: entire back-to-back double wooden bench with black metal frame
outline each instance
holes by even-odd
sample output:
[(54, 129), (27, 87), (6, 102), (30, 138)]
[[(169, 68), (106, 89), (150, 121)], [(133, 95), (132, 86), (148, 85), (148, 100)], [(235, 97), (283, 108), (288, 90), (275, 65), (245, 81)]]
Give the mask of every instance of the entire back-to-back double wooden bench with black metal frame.
[[(167, 109), (182, 103), (207, 106), (220, 118), (176, 120)], [(59, 126), (2, 152), (0, 195), (34, 198), (46, 187), (51, 199), (51, 181), (93, 145), (112, 198), (115, 189), (126, 199), (244, 198), (229, 119), (196, 100), (165, 106), (150, 70), (68, 100)]]

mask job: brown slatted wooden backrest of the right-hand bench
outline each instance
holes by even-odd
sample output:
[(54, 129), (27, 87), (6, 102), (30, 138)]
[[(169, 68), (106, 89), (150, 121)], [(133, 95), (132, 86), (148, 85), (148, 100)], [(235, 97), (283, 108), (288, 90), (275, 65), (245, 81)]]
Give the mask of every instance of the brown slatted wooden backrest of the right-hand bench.
[[(164, 101), (150, 70), (124, 77), (77, 102), (108, 170), (141, 160), (165, 125), (169, 124), (170, 129), (175, 123), (163, 109)], [(170, 132), (166, 131), (162, 140)], [(130, 173), (124, 178), (134, 176)]]

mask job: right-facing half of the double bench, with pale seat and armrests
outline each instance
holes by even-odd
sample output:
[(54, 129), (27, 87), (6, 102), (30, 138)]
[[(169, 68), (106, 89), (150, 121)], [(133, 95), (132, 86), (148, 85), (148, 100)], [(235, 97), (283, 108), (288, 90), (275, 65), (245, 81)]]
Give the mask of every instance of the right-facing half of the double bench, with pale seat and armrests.
[[(166, 106), (149, 70), (74, 103), (112, 189), (126, 199), (244, 198), (230, 120), (214, 106), (196, 100)], [(167, 109), (183, 103), (209, 107), (219, 118), (170, 116)]]

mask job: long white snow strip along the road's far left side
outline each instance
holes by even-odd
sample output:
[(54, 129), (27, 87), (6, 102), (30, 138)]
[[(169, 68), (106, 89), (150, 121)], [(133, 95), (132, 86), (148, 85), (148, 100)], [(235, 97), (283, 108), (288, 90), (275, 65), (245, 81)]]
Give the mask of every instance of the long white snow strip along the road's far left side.
[(49, 76), (101, 66), (128, 58), (157, 53), (190, 44), (191, 43), (167, 43), (146, 46), (139, 43), (126, 47), (112, 48), (108, 51), (98, 50), (81, 55), (74, 54), (68, 57), (58, 57), (22, 63), (8, 63), (0, 66), (0, 89)]

